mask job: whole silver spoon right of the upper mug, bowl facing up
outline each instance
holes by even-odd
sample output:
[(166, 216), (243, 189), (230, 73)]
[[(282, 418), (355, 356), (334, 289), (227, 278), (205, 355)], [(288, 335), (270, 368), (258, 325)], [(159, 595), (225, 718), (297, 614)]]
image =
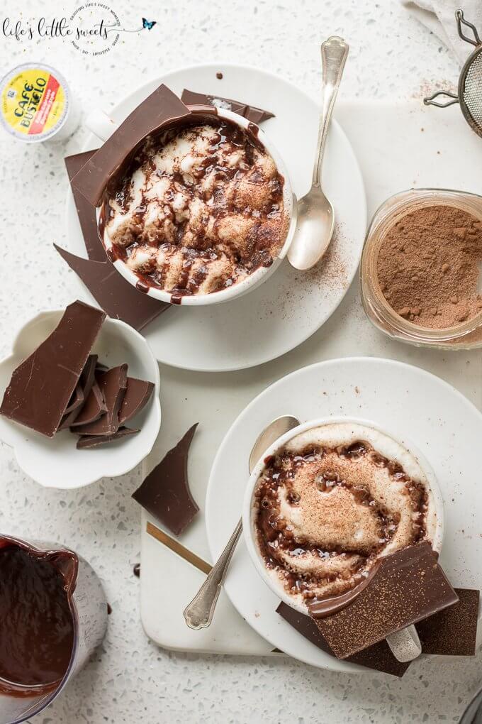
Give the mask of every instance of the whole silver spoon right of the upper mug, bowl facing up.
[(311, 269), (322, 258), (332, 239), (335, 211), (322, 191), (324, 144), (333, 106), (348, 56), (348, 44), (332, 35), (322, 43), (323, 111), (319, 123), (318, 146), (309, 192), (298, 201), (296, 232), (288, 250), (288, 261), (295, 269)]

